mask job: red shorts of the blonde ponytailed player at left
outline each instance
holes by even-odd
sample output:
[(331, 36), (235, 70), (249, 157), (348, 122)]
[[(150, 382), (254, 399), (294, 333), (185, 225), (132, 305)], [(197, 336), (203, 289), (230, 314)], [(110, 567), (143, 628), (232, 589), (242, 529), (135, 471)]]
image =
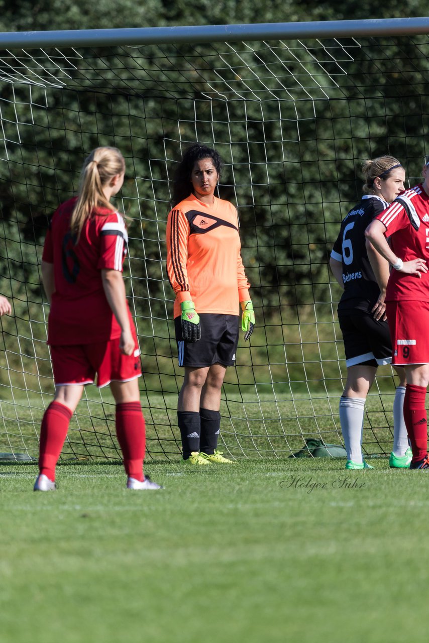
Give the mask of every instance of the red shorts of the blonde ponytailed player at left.
[[(134, 335), (134, 333), (133, 333)], [(114, 382), (127, 382), (141, 376), (140, 349), (134, 335), (132, 355), (119, 350), (119, 338), (95, 344), (51, 346), (55, 386), (93, 384), (101, 388)]]

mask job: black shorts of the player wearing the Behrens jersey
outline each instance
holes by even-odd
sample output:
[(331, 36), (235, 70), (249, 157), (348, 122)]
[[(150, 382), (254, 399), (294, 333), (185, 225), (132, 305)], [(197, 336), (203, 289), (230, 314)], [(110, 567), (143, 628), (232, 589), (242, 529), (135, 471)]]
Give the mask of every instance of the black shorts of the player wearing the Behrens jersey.
[(345, 365), (378, 367), (392, 362), (387, 321), (374, 320), (371, 312), (338, 311), (343, 334)]

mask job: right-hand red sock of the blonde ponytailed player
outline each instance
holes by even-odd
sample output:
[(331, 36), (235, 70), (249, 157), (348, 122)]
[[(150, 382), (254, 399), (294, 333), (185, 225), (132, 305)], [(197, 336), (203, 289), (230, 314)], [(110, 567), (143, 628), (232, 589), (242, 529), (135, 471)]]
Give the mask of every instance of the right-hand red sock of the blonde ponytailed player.
[(140, 402), (116, 404), (116, 435), (127, 476), (143, 482), (146, 434)]

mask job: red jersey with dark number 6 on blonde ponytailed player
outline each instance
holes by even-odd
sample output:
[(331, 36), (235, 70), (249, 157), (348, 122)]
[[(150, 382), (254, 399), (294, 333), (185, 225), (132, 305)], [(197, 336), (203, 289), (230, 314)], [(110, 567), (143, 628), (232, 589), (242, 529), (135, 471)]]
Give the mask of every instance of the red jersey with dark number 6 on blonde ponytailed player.
[(122, 271), (128, 241), (123, 217), (97, 208), (76, 242), (70, 231), (76, 201), (77, 197), (69, 199), (55, 211), (44, 242), (42, 260), (53, 264), (55, 278), (48, 320), (51, 345), (91, 344), (121, 334), (104, 294), (101, 271)]

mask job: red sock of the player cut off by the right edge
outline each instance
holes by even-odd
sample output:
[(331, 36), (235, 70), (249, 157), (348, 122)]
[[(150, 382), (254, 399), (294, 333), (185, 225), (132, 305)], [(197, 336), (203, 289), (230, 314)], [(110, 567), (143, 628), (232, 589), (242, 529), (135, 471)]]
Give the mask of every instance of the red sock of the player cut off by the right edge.
[(413, 452), (413, 462), (423, 460), (428, 453), (428, 415), (426, 388), (407, 384), (404, 398), (404, 420)]

